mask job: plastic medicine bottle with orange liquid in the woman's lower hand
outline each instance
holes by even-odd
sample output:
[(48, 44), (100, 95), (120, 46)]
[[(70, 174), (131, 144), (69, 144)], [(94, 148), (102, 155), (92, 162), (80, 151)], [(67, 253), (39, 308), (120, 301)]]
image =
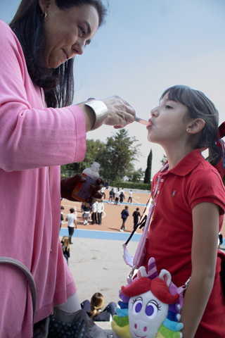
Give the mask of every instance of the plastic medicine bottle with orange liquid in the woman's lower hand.
[(91, 165), (91, 168), (86, 168), (82, 172), (82, 176), (86, 178), (86, 182), (77, 182), (75, 185), (75, 189), (73, 189), (72, 197), (77, 199), (77, 201), (85, 202), (91, 194), (93, 190), (91, 189), (92, 184), (96, 184), (96, 180), (98, 180), (99, 173), (98, 170), (100, 168), (100, 164), (94, 162)]

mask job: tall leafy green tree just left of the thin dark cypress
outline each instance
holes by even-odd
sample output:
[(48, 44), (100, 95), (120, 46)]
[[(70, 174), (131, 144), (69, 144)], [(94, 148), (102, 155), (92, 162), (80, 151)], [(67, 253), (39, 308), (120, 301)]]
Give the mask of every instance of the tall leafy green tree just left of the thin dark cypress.
[[(120, 129), (113, 137), (107, 137), (103, 151), (96, 161), (101, 164), (101, 175), (110, 180), (120, 180), (134, 170), (134, 161), (140, 155), (140, 144), (135, 137), (129, 137), (127, 130)], [(135, 146), (134, 146), (135, 144)]]

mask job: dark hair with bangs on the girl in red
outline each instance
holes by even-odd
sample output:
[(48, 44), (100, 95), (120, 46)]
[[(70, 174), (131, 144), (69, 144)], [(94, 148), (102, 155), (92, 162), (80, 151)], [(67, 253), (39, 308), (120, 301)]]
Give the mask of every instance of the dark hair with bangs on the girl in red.
[(207, 161), (212, 165), (217, 165), (221, 160), (222, 151), (217, 146), (219, 114), (212, 101), (203, 92), (191, 89), (187, 86), (177, 85), (170, 87), (162, 93), (160, 99), (168, 94), (169, 100), (180, 102), (188, 108), (188, 118), (202, 118), (205, 126), (198, 134), (191, 135), (191, 142), (194, 149), (209, 149)]

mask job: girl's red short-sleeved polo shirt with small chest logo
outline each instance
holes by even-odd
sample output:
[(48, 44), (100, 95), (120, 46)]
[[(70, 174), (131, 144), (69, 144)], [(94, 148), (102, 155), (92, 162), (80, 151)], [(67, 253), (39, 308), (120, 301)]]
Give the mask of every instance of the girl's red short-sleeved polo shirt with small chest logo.
[[(154, 177), (153, 187), (157, 177), (158, 174)], [(150, 257), (155, 257), (158, 271), (169, 270), (172, 281), (177, 287), (183, 285), (191, 276), (192, 208), (202, 202), (210, 202), (219, 206), (220, 216), (217, 229), (219, 232), (225, 210), (224, 184), (218, 171), (205, 161), (200, 150), (196, 149), (185, 156), (172, 170), (162, 174), (146, 241), (145, 265), (147, 266)], [(221, 261), (218, 258), (215, 282), (217, 280), (220, 282), (218, 275), (220, 265)], [(223, 303), (218, 306), (217, 299), (217, 304), (214, 306), (217, 305), (220, 313), (221, 311), (224, 313), (224, 322), (220, 322), (219, 325), (224, 325), (223, 334), (225, 334), (225, 303), (221, 294), (221, 286), (217, 291), (217, 296), (223, 299)], [(214, 311), (214, 306), (210, 311), (212, 309)], [(212, 323), (212, 326), (217, 327), (217, 324)], [(214, 335), (215, 327), (212, 330), (213, 335), (205, 335), (208, 331), (203, 331), (201, 334), (204, 333), (204, 336), (195, 335), (195, 337), (224, 337), (224, 335)]]

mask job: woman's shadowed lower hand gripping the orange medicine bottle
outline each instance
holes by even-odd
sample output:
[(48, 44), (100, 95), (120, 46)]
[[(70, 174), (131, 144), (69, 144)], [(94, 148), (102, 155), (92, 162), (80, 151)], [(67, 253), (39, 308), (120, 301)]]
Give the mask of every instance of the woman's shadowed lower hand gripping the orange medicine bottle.
[[(75, 188), (75, 185), (77, 182), (85, 182), (86, 179), (82, 174), (76, 174), (75, 176), (72, 177), (65, 177), (61, 178), (60, 180), (60, 187), (61, 187), (61, 197), (63, 199), (68, 199), (69, 201), (77, 201), (77, 199), (74, 199), (71, 194), (73, 189)], [(102, 187), (102, 182), (101, 178), (98, 178), (96, 180), (96, 185), (92, 185), (91, 189), (93, 190), (93, 194), (86, 199), (87, 203), (91, 203), (94, 199), (101, 199), (102, 195), (98, 190), (101, 189)]]

